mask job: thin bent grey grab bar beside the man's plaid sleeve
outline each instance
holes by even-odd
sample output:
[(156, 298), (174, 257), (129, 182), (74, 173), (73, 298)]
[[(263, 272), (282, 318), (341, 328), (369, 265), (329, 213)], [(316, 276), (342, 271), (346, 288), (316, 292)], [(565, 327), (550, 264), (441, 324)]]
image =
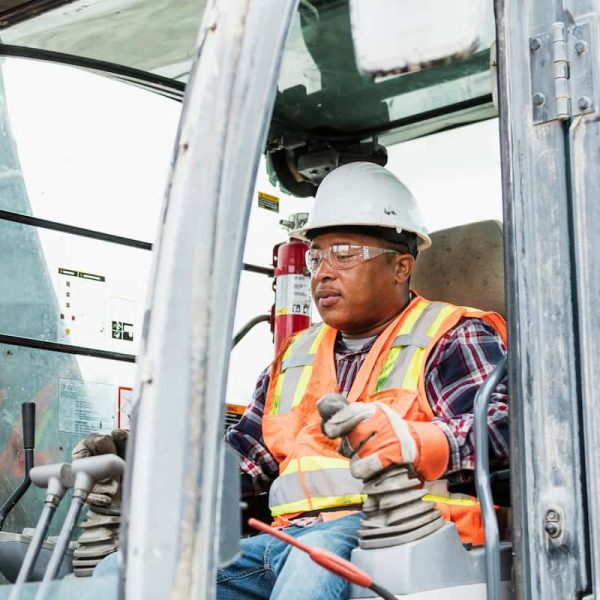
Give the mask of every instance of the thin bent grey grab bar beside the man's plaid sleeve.
[(485, 570), (488, 600), (500, 600), (500, 534), (490, 485), (488, 404), (496, 386), (506, 374), (506, 358), (490, 373), (475, 396), (475, 486), (485, 529)]

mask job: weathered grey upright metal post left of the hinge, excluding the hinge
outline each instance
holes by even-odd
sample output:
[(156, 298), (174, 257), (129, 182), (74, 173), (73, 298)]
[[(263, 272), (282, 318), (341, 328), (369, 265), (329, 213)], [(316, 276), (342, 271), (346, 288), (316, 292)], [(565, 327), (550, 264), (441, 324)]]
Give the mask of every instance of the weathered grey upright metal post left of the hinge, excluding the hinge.
[[(535, 125), (529, 39), (559, 1), (496, 3), (511, 389), (515, 585), (519, 598), (576, 598), (588, 586), (580, 461), (568, 153), (564, 125)], [(559, 505), (553, 538), (546, 513)]]

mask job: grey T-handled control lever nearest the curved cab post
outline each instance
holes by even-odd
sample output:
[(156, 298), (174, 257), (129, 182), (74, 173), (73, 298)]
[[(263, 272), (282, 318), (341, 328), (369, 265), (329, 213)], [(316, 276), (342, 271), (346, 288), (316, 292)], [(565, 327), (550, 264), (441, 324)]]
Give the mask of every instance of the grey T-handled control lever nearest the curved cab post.
[(46, 572), (38, 592), (35, 596), (35, 600), (43, 600), (48, 597), (50, 589), (50, 583), (56, 577), (62, 560), (67, 552), (69, 540), (75, 525), (77, 525), (77, 519), (79, 513), (90, 493), (94, 483), (101, 479), (115, 478), (123, 474), (125, 468), (125, 461), (118, 457), (116, 454), (100, 454), (98, 456), (88, 456), (86, 458), (78, 458), (71, 464), (71, 472), (73, 475), (73, 497), (71, 499), (71, 505), (65, 517), (62, 529), (56, 545), (52, 552), (52, 556), (48, 561)]

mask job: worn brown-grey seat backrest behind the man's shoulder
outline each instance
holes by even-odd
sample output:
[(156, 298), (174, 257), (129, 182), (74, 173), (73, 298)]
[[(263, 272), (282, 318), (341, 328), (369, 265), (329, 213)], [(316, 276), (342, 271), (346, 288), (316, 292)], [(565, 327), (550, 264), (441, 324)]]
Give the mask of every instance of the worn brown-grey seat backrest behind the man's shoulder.
[(417, 259), (411, 287), (442, 300), (505, 314), (502, 223), (479, 221), (431, 234)]

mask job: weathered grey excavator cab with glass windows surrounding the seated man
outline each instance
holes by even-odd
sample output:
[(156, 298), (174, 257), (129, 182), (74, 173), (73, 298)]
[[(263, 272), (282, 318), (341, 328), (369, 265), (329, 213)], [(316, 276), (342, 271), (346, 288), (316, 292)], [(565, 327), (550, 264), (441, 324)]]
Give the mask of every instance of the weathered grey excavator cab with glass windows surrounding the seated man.
[[(323, 177), (358, 160), (386, 165), (424, 208), (434, 245), (417, 290), (506, 316), (511, 465), (478, 467), (486, 547), (464, 548), (448, 525), (359, 548), (353, 561), (407, 599), (597, 594), (599, 10), (587, 0), (3, 8), (8, 581), (44, 504), (31, 457), (70, 463), (92, 430), (130, 424), (131, 437), (119, 574), (86, 577), (95, 546), (82, 577), (7, 581), (0, 597), (214, 597), (240, 538), (223, 428), (272, 359), (279, 221), (309, 212)], [(31, 402), (35, 435), (23, 435)], [(493, 503), (511, 505), (512, 545), (494, 534)], [(51, 536), (66, 512), (63, 502)]]

